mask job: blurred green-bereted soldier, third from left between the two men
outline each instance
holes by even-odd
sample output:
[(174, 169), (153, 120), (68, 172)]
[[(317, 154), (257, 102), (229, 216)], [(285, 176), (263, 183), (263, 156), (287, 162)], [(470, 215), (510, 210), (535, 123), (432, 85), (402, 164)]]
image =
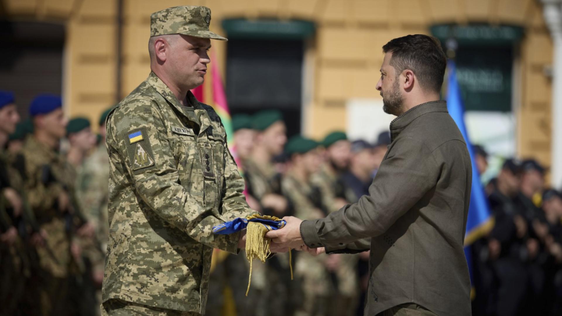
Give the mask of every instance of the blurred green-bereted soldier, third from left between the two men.
[[(318, 146), (312, 139), (301, 136), (294, 136), (287, 143), (291, 166), (283, 177), (282, 189), (293, 202), (298, 218), (318, 219), (327, 214), (327, 206), (323, 205), (318, 189), (310, 183), (311, 175), (318, 171), (321, 163)], [(329, 315), (334, 288), (327, 260), (328, 255), (325, 254), (297, 256), (295, 276), (302, 281), (304, 297), (296, 316)]]

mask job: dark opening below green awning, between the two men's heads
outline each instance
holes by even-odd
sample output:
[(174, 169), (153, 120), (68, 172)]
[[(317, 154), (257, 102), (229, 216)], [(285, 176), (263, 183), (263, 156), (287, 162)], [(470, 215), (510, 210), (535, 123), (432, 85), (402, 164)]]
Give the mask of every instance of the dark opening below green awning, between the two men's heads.
[(302, 39), (229, 39), (226, 97), (233, 114), (283, 112), (287, 134), (301, 132)]

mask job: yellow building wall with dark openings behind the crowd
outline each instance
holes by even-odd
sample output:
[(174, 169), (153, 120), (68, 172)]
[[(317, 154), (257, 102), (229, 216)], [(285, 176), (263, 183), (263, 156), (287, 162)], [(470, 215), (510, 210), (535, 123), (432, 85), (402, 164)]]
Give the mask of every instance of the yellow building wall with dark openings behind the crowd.
[[(2, 0), (10, 19), (46, 20), (67, 26), (64, 96), (70, 116), (97, 121), (99, 113), (124, 97), (149, 73), (149, 15), (166, 7), (195, 4), (212, 10), (211, 30), (225, 18), (262, 17), (314, 21), (311, 43), (312, 94), (306, 107), (305, 133), (320, 138), (346, 129), (350, 98), (380, 98), (375, 84), (382, 46), (395, 37), (429, 32), (436, 23), (486, 22), (525, 28), (520, 47), (520, 76), (514, 91), (520, 100), (518, 154), (551, 160), (552, 42), (537, 0), (123, 0), (121, 90), (117, 78), (116, 0)], [(214, 64), (224, 74), (228, 43), (215, 41)]]

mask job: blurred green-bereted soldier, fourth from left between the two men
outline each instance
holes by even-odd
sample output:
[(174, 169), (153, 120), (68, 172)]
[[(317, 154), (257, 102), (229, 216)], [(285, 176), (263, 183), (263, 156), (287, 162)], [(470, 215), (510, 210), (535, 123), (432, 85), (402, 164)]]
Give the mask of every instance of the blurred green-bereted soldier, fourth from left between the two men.
[[(350, 162), (351, 143), (343, 132), (329, 133), (322, 145), (325, 148), (325, 161), (320, 170), (312, 175), (311, 183), (320, 189), (324, 205), (332, 213), (348, 202), (339, 196), (343, 188), (338, 178), (346, 171)], [(358, 255), (334, 254), (329, 257), (337, 279), (337, 298), (332, 300), (330, 314), (334, 316), (354, 315), (359, 301), (359, 280), (357, 278)]]

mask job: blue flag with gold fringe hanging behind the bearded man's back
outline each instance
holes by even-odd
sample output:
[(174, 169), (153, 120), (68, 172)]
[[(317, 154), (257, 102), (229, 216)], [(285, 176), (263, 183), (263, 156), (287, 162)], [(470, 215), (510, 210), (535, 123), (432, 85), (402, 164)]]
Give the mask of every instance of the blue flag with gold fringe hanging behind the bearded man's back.
[(447, 109), (449, 111), (449, 114), (457, 124), (457, 127), (459, 127), (460, 132), (463, 134), (464, 140), (466, 142), (466, 147), (468, 147), (468, 152), (470, 154), (470, 161), (472, 162), (472, 189), (470, 194), (470, 206), (468, 209), (468, 219), (466, 220), (466, 234), (464, 239), (464, 252), (470, 272), (470, 280), (472, 281), (473, 276), (470, 245), (472, 245), (474, 241), (478, 240), (478, 238), (482, 237), (483, 234), (485, 234), (492, 228), (493, 221), (490, 216), (488, 199), (484, 194), (484, 189), (480, 182), (480, 175), (478, 174), (478, 170), (476, 168), (472, 143), (470, 143), (468, 133), (466, 133), (466, 127), (464, 124), (464, 106), (460, 94), (459, 83), (456, 79), (455, 62), (449, 60), (447, 63), (447, 68)]

